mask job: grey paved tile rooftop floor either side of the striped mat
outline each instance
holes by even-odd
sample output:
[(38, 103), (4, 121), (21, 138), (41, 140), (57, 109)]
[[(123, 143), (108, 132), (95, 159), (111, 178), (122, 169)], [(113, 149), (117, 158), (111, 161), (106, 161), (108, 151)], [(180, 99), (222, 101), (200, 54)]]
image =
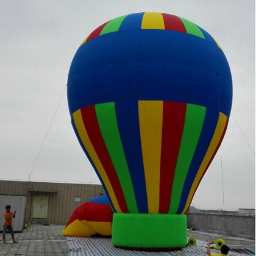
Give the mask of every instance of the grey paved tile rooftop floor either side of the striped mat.
[[(18, 241), (15, 244), (12, 243), (9, 233), (6, 235), (7, 244), (3, 244), (2, 233), (0, 233), (0, 256), (68, 256), (66, 237), (62, 235), (64, 227), (32, 224), (32, 227), (15, 233), (15, 239)], [(246, 247), (255, 252), (255, 238), (230, 237), (192, 230), (188, 230), (188, 238), (201, 241), (216, 241), (216, 239), (222, 238), (230, 247)]]

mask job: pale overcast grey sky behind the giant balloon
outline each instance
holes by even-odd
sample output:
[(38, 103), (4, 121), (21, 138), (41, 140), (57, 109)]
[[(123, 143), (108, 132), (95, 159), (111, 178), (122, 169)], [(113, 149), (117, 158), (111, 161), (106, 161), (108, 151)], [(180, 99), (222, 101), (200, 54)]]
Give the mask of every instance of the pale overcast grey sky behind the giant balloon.
[(91, 31), (135, 12), (181, 16), (221, 45), (233, 77), (232, 112), (193, 205), (255, 208), (254, 0), (2, 0), (0, 178), (99, 183), (71, 127), (68, 70)]

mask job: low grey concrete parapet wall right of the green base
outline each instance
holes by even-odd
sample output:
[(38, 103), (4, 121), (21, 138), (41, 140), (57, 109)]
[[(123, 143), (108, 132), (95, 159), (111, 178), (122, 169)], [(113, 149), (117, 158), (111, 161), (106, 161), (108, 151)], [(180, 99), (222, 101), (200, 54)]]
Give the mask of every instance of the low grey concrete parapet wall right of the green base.
[(187, 217), (188, 227), (196, 230), (255, 238), (255, 216), (188, 213)]

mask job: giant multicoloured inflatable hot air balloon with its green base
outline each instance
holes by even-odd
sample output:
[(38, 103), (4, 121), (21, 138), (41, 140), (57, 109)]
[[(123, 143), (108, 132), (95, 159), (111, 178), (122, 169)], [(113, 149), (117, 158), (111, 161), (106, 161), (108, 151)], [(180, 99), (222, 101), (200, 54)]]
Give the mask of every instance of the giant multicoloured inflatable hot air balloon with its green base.
[(219, 44), (166, 13), (110, 20), (74, 55), (68, 105), (115, 212), (113, 245), (186, 246), (185, 213), (232, 105), (232, 77)]

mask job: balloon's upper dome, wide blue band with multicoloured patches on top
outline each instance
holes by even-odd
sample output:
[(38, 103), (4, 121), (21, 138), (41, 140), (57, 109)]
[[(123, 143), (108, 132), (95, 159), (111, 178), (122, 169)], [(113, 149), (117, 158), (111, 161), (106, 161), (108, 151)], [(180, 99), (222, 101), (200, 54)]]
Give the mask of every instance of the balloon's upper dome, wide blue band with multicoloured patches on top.
[(229, 116), (232, 77), (219, 44), (196, 24), (165, 13), (133, 13), (98, 27), (69, 70), (70, 112), (139, 99), (197, 104)]

